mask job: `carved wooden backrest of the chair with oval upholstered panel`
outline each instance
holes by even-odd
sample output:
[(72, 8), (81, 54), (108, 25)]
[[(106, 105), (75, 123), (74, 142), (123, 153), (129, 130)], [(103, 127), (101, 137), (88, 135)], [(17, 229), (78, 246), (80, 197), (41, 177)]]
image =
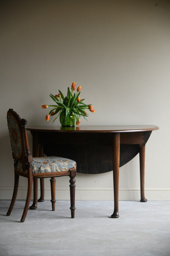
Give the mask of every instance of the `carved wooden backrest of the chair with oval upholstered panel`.
[[(26, 130), (27, 120), (21, 119), (20, 116), (11, 108), (7, 112), (7, 123), (14, 159), (14, 168), (26, 171), (28, 164), (26, 156), (28, 156), (29, 153)], [(25, 141), (27, 141), (27, 145), (25, 145)]]

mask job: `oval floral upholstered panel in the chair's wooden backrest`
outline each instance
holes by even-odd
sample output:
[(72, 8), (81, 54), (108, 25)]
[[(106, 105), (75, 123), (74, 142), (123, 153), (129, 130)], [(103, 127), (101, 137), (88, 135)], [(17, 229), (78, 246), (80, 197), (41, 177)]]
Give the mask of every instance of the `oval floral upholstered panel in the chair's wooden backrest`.
[(11, 140), (11, 147), (16, 158), (20, 158), (22, 153), (21, 135), (18, 124), (12, 114), (7, 116), (9, 136)]

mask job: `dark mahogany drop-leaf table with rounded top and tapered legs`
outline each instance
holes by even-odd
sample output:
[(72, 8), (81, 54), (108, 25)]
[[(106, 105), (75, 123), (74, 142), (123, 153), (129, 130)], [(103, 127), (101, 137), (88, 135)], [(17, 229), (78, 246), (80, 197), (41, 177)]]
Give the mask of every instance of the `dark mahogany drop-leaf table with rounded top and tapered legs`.
[[(110, 125), (110, 126), (28, 126), (33, 135), (33, 157), (57, 155), (74, 159), (79, 173), (105, 173), (113, 170), (114, 212), (119, 217), (119, 167), (139, 153), (141, 202), (144, 195), (145, 144), (156, 125)], [(41, 196), (44, 201), (44, 180), (40, 179)], [(37, 191), (35, 192), (37, 193)], [(36, 208), (33, 202), (32, 208)]]

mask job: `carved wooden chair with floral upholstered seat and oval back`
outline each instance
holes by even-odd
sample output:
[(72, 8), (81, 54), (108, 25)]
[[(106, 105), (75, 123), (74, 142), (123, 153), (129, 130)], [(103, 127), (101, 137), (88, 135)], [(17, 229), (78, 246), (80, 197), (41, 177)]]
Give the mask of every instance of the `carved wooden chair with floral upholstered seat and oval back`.
[[(51, 203), (52, 210), (55, 210), (55, 177), (69, 176), (70, 177), (70, 202), (71, 202), (71, 217), (74, 218), (75, 211), (75, 176), (76, 162), (63, 157), (32, 157), (29, 151), (27, 138), (27, 120), (21, 119), (20, 116), (9, 109), (7, 112), (7, 123), (9, 136), (11, 140), (12, 155), (14, 159), (15, 182), (11, 204), (7, 212), (7, 216), (11, 214), (14, 203), (16, 201), (19, 176), (24, 176), (28, 179), (27, 199), (25, 208), (22, 214), (21, 222), (25, 221), (29, 208), (31, 190), (33, 180), (37, 184), (38, 178), (51, 178)], [(35, 201), (35, 198), (34, 198)]]

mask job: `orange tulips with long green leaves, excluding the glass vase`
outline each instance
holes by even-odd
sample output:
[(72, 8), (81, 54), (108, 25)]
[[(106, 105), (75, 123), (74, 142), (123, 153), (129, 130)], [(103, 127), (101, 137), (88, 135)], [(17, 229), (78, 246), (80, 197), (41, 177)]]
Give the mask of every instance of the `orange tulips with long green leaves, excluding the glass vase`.
[[(48, 108), (51, 107), (52, 109), (49, 111), (49, 113), (46, 115), (46, 120), (49, 121), (50, 116), (57, 115), (56, 118), (60, 116), (64, 116), (64, 121), (67, 122), (69, 115), (74, 115), (76, 118), (76, 125), (79, 125), (81, 120), (80, 117), (83, 116), (83, 118), (86, 119), (88, 117), (88, 114), (86, 113), (85, 109), (89, 109), (91, 112), (95, 112), (93, 106), (91, 104), (85, 104), (83, 101), (85, 99), (81, 99), (79, 97), (81, 93), (81, 86), (78, 86), (77, 92), (73, 94), (73, 91), (76, 89), (76, 83), (72, 83), (72, 90), (70, 91), (69, 87), (67, 89), (67, 96), (64, 97), (63, 93), (59, 91), (58, 95), (52, 95), (49, 96), (51, 99), (54, 100), (56, 105), (42, 105), (42, 108)], [(56, 120), (54, 119), (54, 121)], [(53, 121), (53, 122), (54, 122)], [(61, 120), (60, 120), (61, 122)]]

